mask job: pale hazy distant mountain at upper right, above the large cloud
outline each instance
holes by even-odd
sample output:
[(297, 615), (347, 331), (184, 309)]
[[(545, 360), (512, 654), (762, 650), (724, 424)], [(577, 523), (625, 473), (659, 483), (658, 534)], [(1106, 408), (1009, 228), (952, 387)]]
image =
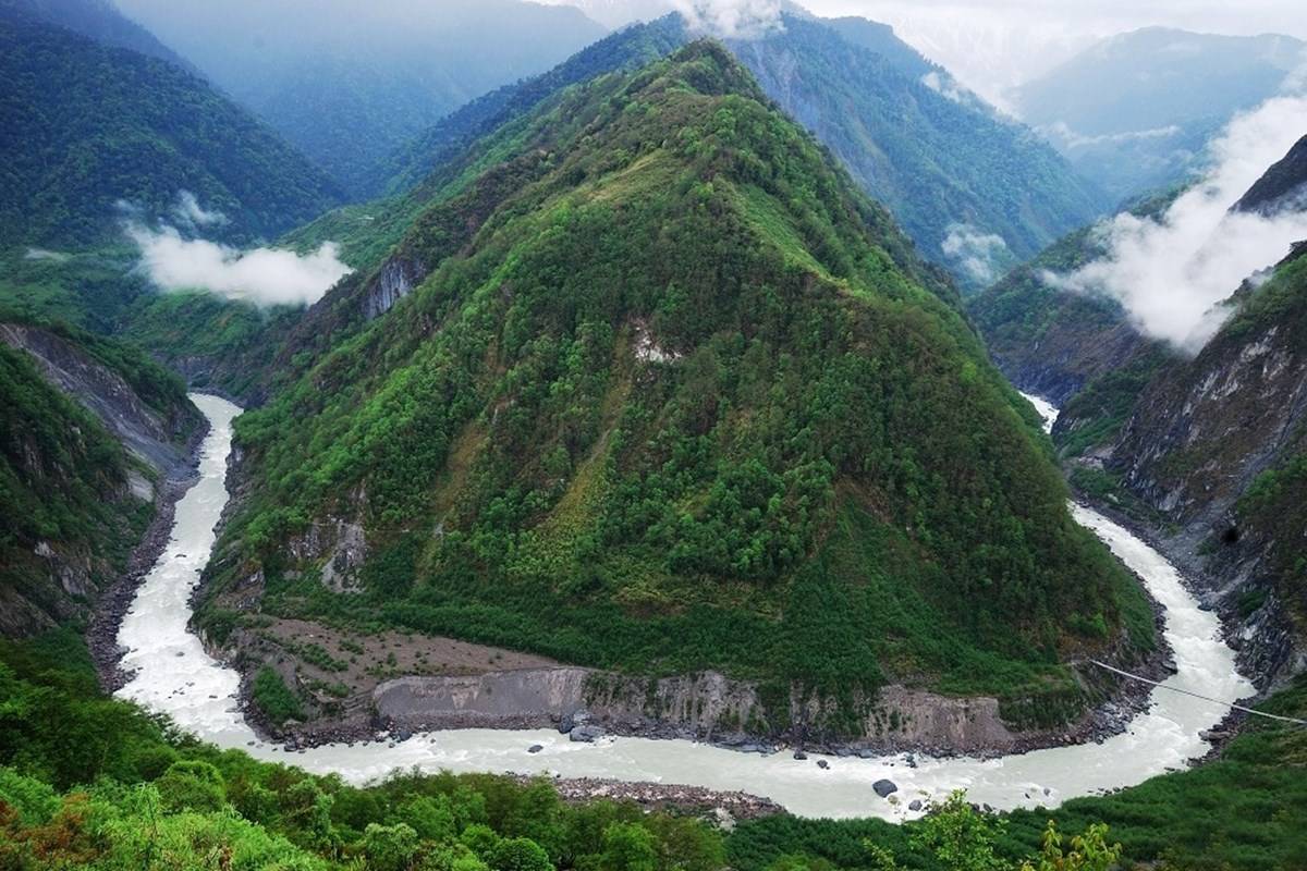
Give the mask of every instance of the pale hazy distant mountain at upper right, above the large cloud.
[(1182, 179), (1238, 112), (1304, 60), (1291, 37), (1146, 27), (1104, 39), (1014, 94), (1017, 114), (1119, 198)]

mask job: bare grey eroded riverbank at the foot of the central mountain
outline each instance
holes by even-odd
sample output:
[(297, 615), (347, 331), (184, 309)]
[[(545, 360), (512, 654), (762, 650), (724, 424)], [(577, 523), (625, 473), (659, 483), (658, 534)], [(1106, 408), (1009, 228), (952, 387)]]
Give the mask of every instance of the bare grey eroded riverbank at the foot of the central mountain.
[(816, 725), (823, 713), (819, 703), (796, 695), (787, 710), (769, 710), (757, 686), (716, 673), (646, 679), (561, 666), (388, 680), (372, 691), (378, 723), (369, 729), (557, 727), (583, 742), (616, 734), (707, 740), (754, 752), (788, 744), (838, 753), (988, 756), (1119, 731), (1145, 695), (1108, 703), (1064, 729), (1019, 730), (1004, 721), (997, 699), (889, 686), (863, 705), (855, 734), (846, 730), (835, 738)]

